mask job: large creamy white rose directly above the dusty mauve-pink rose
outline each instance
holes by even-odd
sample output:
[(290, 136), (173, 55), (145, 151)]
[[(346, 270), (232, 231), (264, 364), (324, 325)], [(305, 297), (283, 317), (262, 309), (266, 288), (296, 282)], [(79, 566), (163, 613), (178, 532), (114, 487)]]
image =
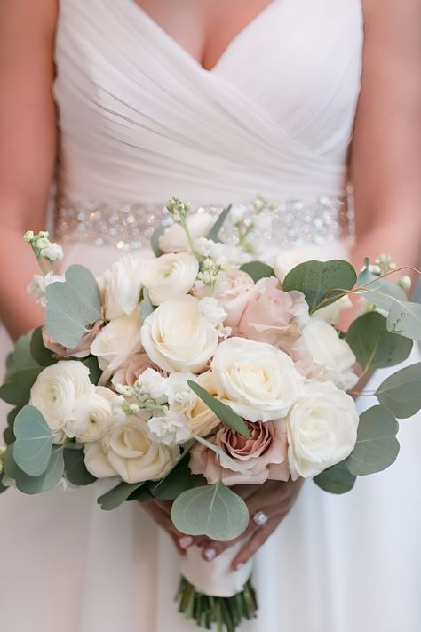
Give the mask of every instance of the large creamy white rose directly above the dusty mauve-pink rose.
[(219, 345), (212, 375), (222, 401), (248, 421), (285, 417), (303, 384), (289, 356), (272, 345), (244, 338)]

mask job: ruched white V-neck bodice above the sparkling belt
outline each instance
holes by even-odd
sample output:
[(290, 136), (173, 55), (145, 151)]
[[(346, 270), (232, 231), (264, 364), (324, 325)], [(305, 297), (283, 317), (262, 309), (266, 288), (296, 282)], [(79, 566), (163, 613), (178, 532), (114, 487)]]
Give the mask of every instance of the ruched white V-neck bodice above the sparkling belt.
[(274, 0), (208, 71), (135, 0), (60, 0), (60, 190), (145, 204), (341, 196), (361, 46), (361, 0)]

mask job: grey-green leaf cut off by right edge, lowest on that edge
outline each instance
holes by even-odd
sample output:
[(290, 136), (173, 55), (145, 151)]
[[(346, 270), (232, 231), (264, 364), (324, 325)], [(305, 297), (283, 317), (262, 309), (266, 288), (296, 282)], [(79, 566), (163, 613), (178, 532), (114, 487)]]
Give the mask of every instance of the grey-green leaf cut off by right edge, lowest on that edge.
[(386, 378), (377, 388), (376, 396), (398, 419), (415, 415), (421, 409), (421, 362)]

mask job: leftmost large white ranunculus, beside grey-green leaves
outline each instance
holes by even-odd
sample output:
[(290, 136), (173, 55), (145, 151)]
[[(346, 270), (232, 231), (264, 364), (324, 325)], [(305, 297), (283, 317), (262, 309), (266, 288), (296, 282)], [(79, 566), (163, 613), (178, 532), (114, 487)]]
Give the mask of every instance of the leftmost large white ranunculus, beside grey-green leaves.
[(29, 404), (43, 413), (53, 432), (61, 434), (67, 422), (74, 419), (76, 402), (94, 393), (87, 367), (77, 360), (61, 360), (40, 372), (31, 388)]

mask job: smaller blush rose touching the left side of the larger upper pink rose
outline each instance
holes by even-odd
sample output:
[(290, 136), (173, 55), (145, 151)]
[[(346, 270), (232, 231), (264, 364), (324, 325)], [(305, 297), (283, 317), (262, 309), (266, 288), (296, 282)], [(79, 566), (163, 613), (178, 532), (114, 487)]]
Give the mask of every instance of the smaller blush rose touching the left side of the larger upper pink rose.
[[(236, 327), (242, 317), (249, 298), (254, 290), (254, 281), (247, 272), (242, 270), (226, 270), (218, 275), (215, 285), (215, 299), (218, 299), (221, 308), (226, 311), (224, 325)], [(192, 292), (198, 299), (209, 296), (209, 288), (204, 284), (196, 284)]]

